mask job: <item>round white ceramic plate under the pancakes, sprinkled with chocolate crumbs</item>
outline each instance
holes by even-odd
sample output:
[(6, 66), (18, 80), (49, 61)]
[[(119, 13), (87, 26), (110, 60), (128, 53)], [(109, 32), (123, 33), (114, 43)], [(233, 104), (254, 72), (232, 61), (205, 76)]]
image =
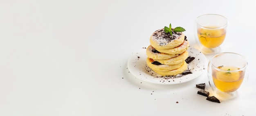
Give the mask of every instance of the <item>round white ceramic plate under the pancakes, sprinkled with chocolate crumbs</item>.
[(128, 60), (128, 69), (136, 78), (149, 83), (166, 85), (184, 83), (200, 76), (204, 71), (207, 70), (208, 64), (207, 58), (197, 49), (190, 47), (187, 51), (189, 52), (189, 56), (195, 57), (195, 59), (188, 64), (188, 69), (192, 72), (192, 74), (179, 75), (176, 77), (161, 77), (154, 71), (150, 70), (150, 68), (147, 66), (146, 48), (142, 48), (139, 51), (132, 53)]

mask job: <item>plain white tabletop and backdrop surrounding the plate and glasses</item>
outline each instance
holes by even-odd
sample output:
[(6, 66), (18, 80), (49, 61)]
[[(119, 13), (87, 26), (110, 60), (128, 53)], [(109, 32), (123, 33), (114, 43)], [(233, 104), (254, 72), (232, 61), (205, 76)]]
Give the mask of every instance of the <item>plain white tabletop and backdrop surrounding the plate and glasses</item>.
[[(253, 0), (0, 0), (0, 116), (253, 116), (255, 5)], [(195, 84), (207, 83), (206, 73), (177, 85), (132, 78), (128, 58), (149, 45), (155, 30), (170, 23), (183, 27), (196, 48), (194, 21), (206, 13), (229, 20), (222, 51), (248, 59), (248, 86), (238, 98), (218, 104), (198, 95)]]

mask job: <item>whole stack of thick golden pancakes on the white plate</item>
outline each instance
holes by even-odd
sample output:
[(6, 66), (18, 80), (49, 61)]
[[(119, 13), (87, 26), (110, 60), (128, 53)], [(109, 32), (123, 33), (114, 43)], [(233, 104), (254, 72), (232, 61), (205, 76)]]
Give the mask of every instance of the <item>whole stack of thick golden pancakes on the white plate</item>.
[(176, 76), (187, 69), (186, 58), (189, 42), (182, 32), (155, 31), (150, 36), (150, 45), (146, 49), (147, 65), (161, 76)]

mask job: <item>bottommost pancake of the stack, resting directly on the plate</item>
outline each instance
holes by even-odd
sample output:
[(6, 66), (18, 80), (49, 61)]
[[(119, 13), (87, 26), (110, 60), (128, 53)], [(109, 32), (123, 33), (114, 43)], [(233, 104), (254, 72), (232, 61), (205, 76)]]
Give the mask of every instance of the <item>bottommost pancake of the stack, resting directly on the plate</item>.
[(186, 71), (186, 69), (187, 69), (187, 64), (184, 61), (182, 66), (179, 67), (178, 69), (174, 69), (170, 71), (157, 71), (155, 69), (152, 69), (152, 70), (161, 76), (176, 76), (177, 74), (182, 74), (184, 71)]

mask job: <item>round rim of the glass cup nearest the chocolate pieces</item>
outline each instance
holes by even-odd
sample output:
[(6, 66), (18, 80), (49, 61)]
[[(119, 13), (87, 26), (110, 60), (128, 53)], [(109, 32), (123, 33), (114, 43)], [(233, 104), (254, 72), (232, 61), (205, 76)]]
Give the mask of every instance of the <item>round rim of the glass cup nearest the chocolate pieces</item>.
[(240, 56), (240, 57), (242, 57), (242, 58), (245, 59), (246, 64), (245, 64), (245, 66), (243, 66), (243, 67), (240, 68), (240, 69), (232, 70), (232, 71), (227, 71), (227, 70), (219, 69), (218, 67), (221, 67), (221, 66), (216, 67), (215, 65), (213, 65), (213, 64), (211, 63), (211, 65), (214, 67), (214, 69), (217, 69), (218, 71), (236, 72), (236, 71), (242, 71), (242, 70), (244, 70), (244, 69), (248, 66), (248, 61), (247, 61), (247, 59), (246, 59), (244, 56), (242, 56), (242, 55), (240, 55), (240, 54), (237, 54), (237, 53), (234, 53), (234, 52), (222, 52), (222, 53), (215, 54), (214, 56), (212, 56), (212, 57), (210, 58), (210, 62), (212, 62), (212, 60), (213, 60), (214, 57), (216, 57), (216, 56), (218, 56), (218, 55), (220, 55), (220, 54), (235, 54), (235, 55), (238, 55), (238, 56)]

